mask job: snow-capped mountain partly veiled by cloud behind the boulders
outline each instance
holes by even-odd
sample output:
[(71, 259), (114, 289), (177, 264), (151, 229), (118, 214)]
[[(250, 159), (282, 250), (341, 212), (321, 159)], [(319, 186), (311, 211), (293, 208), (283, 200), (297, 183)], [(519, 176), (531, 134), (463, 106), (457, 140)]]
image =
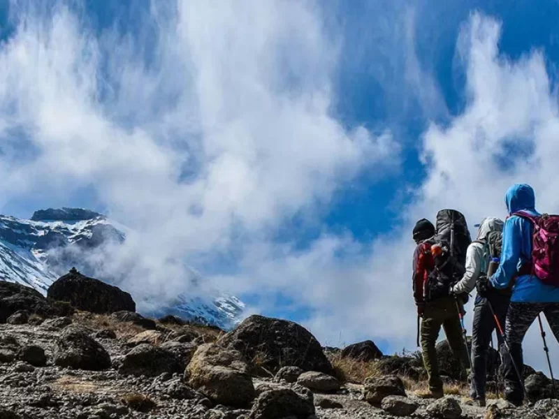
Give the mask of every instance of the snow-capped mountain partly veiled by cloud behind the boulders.
[[(0, 280), (17, 282), (46, 294), (50, 284), (74, 265), (85, 274), (95, 276), (83, 256), (108, 242), (116, 246), (124, 244), (124, 228), (115, 226), (118, 225), (106, 216), (81, 208), (40, 210), (29, 220), (0, 215)], [(192, 272), (196, 281), (203, 281)], [(115, 278), (99, 279), (118, 282)], [(131, 290), (124, 291), (133, 295)], [(139, 303), (138, 307), (142, 307)], [(205, 289), (200, 295), (179, 294), (144, 314), (174, 314), (228, 329), (238, 321), (244, 308), (233, 295)]]

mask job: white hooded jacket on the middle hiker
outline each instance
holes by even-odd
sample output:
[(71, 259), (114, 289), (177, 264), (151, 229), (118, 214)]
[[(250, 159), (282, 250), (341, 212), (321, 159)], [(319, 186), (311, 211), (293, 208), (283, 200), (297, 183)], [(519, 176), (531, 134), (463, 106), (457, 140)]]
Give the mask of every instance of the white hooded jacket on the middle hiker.
[[(479, 278), (479, 274), (481, 274), (482, 268), (484, 266), (487, 267), (490, 262), (489, 257), (484, 260), (486, 237), (491, 231), (502, 231), (503, 225), (504, 223), (502, 220), (493, 217), (488, 217), (484, 219), (484, 221), (481, 221), (477, 232), (477, 241), (472, 242), (472, 244), (467, 247), (466, 272), (464, 273), (462, 279), (460, 279), (460, 281), (452, 287), (453, 293), (471, 293), (474, 288), (476, 288), (476, 282)], [(479, 243), (478, 241), (482, 243)]]

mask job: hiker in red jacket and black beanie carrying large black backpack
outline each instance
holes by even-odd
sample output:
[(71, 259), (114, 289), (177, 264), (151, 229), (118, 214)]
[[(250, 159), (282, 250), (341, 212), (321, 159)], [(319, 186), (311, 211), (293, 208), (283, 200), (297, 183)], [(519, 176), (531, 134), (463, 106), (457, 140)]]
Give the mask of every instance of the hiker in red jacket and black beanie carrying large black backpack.
[[(453, 242), (456, 252), (451, 252), (449, 247), (451, 240), (446, 240), (449, 233), (454, 231), (454, 227), (450, 228), (451, 221), (454, 226), (457, 226), (457, 234)], [(414, 300), (417, 314), (423, 318), (421, 352), (429, 382), (429, 389), (418, 391), (416, 395), (438, 399), (443, 396), (443, 388), (435, 344), (441, 328), (444, 328), (451, 350), (464, 371), (467, 373), (469, 369), (458, 307), (455, 297), (451, 295), (450, 287), (454, 272), (463, 274), (465, 249), (471, 240), (464, 216), (453, 210), (442, 210), (437, 214), (436, 231), (430, 221), (419, 220), (414, 227), (413, 238), (417, 244), (413, 263)], [(456, 253), (456, 257), (451, 257), (450, 253)]]

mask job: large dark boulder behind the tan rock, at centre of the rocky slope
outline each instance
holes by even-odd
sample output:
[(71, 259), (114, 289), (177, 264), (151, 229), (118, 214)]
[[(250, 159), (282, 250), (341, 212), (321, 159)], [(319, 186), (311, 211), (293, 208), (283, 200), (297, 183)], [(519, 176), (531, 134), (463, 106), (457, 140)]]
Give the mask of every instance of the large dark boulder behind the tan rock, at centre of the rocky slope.
[(259, 366), (274, 374), (288, 365), (326, 374), (333, 371), (319, 341), (291, 321), (250, 316), (217, 344), (240, 351), (249, 360), (258, 359)]

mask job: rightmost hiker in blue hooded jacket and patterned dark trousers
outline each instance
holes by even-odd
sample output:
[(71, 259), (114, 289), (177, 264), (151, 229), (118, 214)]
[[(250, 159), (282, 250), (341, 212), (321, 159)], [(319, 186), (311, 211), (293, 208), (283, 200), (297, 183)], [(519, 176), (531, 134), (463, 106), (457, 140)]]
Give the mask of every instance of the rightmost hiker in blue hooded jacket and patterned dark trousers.
[[(544, 251), (539, 243), (532, 241), (535, 227), (530, 218), (539, 216), (535, 210), (534, 190), (527, 184), (514, 184), (507, 191), (505, 202), (510, 216), (504, 223), (500, 265), (487, 286), (504, 289), (514, 281), (505, 323), (505, 341), (510, 354), (503, 357), (504, 397), (520, 406), (524, 398), (522, 341), (532, 322), (542, 312), (559, 341), (559, 284), (541, 279), (544, 277), (542, 272), (535, 269), (537, 265), (532, 262), (532, 243)], [(557, 263), (559, 260), (554, 261)]]

